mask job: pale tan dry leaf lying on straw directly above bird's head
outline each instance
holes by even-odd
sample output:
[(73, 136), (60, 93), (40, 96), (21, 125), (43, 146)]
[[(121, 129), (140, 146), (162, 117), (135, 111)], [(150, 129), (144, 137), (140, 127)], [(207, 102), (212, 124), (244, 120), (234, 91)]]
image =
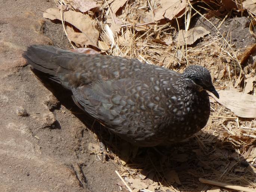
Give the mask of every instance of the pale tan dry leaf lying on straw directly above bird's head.
[(209, 33), (210, 33), (210, 31), (207, 31), (203, 27), (194, 27), (188, 31), (180, 30), (179, 35), (175, 37), (174, 41), (177, 44), (179, 43), (179, 46), (184, 45), (184, 44), (191, 45), (196, 40), (198, 40), (201, 37), (204, 37), (204, 35), (207, 35)]

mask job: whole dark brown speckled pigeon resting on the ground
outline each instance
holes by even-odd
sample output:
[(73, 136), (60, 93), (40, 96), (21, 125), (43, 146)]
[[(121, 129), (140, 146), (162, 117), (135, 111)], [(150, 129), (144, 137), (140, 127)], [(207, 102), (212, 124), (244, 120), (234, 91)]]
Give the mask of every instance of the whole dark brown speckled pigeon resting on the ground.
[(210, 72), (183, 73), (138, 59), (89, 55), (33, 45), (23, 57), (33, 70), (72, 92), (74, 103), (132, 145), (167, 146), (197, 133), (210, 115)]

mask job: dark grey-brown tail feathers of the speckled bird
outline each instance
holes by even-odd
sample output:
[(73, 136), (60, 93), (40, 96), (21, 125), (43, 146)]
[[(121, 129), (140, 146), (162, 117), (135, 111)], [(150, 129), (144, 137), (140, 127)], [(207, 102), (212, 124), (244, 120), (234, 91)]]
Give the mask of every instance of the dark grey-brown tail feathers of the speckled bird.
[[(70, 72), (69, 62), (74, 52), (53, 46), (33, 45), (23, 57), (33, 69), (46, 74), (50, 79), (65, 86), (63, 77)], [(65, 86), (68, 88), (67, 86)]]

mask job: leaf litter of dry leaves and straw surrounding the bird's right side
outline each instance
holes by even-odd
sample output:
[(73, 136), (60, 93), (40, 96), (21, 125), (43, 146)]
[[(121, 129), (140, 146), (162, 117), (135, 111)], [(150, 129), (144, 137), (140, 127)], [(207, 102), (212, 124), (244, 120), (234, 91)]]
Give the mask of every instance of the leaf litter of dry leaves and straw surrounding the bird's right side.
[[(227, 18), (246, 15), (253, 35), (256, 1), (55, 1), (43, 16), (63, 22), (73, 51), (137, 58), (178, 72), (202, 65), (219, 92), (219, 99), (210, 98), (207, 126), (170, 148), (138, 150), (105, 139), (122, 191), (229, 191), (200, 177), (256, 190), (256, 44), (236, 47), (232, 31), (219, 30), (228, 28)], [(198, 18), (211, 30), (193, 25)], [(102, 154), (98, 144), (89, 146), (92, 154)]]

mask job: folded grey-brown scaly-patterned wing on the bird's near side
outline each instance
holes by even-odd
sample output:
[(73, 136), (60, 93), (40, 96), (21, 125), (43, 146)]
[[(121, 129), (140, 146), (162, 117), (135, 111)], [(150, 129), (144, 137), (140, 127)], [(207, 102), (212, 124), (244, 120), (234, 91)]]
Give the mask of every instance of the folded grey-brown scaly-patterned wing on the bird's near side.
[(100, 80), (73, 87), (72, 92), (84, 111), (125, 137), (154, 135), (164, 116), (159, 100), (154, 101), (159, 90), (154, 92), (140, 80)]

